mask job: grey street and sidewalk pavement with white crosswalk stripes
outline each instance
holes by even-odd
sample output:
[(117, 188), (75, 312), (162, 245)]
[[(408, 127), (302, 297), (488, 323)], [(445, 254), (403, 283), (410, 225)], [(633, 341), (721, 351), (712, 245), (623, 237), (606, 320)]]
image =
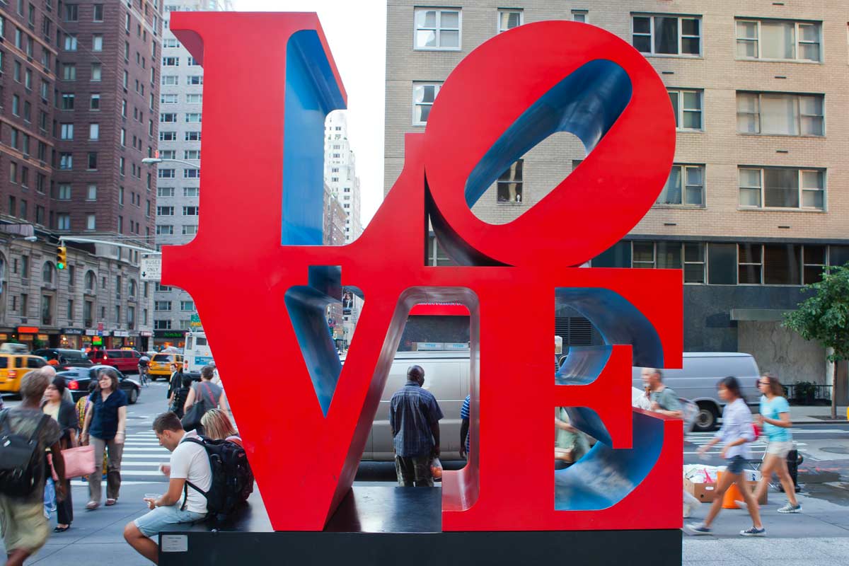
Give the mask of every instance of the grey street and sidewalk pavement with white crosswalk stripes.
[[(158, 467), (167, 462), (169, 453), (159, 446), (150, 429), (154, 417), (165, 410), (167, 386), (164, 381), (144, 388), (138, 403), (127, 411), (127, 445), (121, 465), (123, 479), (121, 499), (115, 507), (101, 507), (86, 512), (87, 485), (73, 482), (76, 518), (71, 529), (51, 535), (47, 546), (28, 563), (42, 566), (65, 566), (75, 560), (86, 560), (93, 554), (104, 563), (123, 566), (146, 562), (126, 544), (124, 525), (145, 512), (142, 498), (146, 493), (160, 493), (166, 479)], [(19, 401), (6, 398), (7, 406)], [(804, 513), (781, 515), (776, 509), (784, 504), (784, 496), (770, 490), (769, 502), (763, 507), (767, 525), (766, 539), (742, 539), (739, 530), (750, 523), (745, 511), (725, 510), (717, 519), (716, 534), (698, 538), (684, 536), (684, 564), (759, 564), (774, 558), (785, 558), (783, 564), (833, 564), (849, 558), (849, 423), (796, 426), (793, 435), (805, 462), (801, 464), (799, 481), (803, 485), (800, 501)], [(711, 433), (688, 434), (684, 446), (685, 463), (719, 465), (719, 450), (711, 450), (700, 458), (696, 449), (711, 438)], [(752, 443), (756, 457), (765, 447), (763, 440)], [(463, 462), (446, 462), (446, 468), (457, 469)], [(354, 485), (395, 485), (392, 462), (363, 462)], [(707, 513), (703, 504), (687, 522), (698, 522)], [(55, 522), (55, 515), (52, 518)], [(798, 545), (793, 539), (805, 539)], [(818, 562), (821, 561), (821, 562)], [(764, 562), (765, 563), (765, 562)]]

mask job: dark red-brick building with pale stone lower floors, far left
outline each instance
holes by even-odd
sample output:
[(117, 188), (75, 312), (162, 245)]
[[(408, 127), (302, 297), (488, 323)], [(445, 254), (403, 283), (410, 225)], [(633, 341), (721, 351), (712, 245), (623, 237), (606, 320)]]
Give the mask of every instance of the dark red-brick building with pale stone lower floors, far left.
[[(152, 292), (139, 249), (154, 227), (157, 3), (0, 3), (0, 341), (145, 347)], [(138, 249), (73, 243), (123, 242)], [(68, 266), (57, 270), (59, 238)]]

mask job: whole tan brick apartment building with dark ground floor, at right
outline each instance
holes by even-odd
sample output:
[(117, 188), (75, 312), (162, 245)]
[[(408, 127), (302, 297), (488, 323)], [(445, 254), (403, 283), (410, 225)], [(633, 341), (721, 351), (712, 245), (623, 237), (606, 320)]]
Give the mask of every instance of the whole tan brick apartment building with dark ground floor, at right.
[[(402, 169), (404, 133), (424, 132), (430, 105), (459, 61), (492, 36), (539, 20), (597, 25), (633, 45), (666, 84), (676, 115), (666, 187), (627, 238), (592, 265), (681, 269), (685, 350), (751, 352), (784, 383), (824, 383), (823, 350), (780, 320), (805, 298), (802, 284), (817, 281), (824, 266), (849, 261), (846, 6), (393, 0), (385, 192)], [(472, 211), (483, 221), (511, 221), (584, 157), (570, 133), (549, 137), (510, 165)], [(431, 246), (433, 265), (450, 263), (438, 242)], [(559, 328), (565, 318), (581, 326), (567, 307), (558, 306)], [(581, 328), (582, 339), (565, 336), (565, 343), (598, 340)], [(846, 391), (837, 395), (846, 401)]]

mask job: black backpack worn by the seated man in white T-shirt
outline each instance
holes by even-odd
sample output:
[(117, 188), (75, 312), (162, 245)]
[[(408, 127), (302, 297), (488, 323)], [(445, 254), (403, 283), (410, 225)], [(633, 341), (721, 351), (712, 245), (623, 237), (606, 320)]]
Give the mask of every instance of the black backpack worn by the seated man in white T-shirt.
[(188, 479), (183, 486), (183, 508), (188, 498), (188, 488), (206, 498), (207, 518), (216, 525), (224, 523), (234, 511), (247, 502), (254, 490), (254, 474), (250, 471), (245, 449), (230, 440), (211, 440), (204, 436), (188, 437), (183, 442), (194, 442), (204, 447), (210, 458), (212, 484), (209, 491), (201, 490)]

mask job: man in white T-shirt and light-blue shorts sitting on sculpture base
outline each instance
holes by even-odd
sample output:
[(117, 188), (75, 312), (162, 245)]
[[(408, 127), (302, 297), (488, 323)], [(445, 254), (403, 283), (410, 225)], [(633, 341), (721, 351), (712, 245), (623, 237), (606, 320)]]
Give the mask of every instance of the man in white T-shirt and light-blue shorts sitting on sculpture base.
[(205, 496), (187, 482), (207, 491), (212, 485), (212, 470), (203, 446), (182, 442), (197, 433), (185, 432), (173, 412), (156, 417), (154, 431), (160, 445), (171, 451), (171, 465), (164, 470), (171, 481), (164, 496), (144, 498), (151, 511), (124, 527), (124, 539), (144, 558), (159, 563), (159, 547), (151, 538), (171, 524), (195, 523), (206, 517)]

